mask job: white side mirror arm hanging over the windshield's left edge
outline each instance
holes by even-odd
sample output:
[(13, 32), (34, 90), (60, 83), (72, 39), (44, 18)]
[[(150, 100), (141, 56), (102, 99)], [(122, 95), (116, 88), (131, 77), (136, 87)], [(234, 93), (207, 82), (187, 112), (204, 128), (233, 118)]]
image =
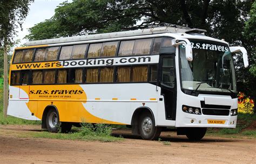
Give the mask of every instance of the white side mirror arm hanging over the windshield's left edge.
[(180, 38), (180, 39), (172, 39), (172, 45), (184, 45), (185, 46), (185, 52), (186, 52), (186, 59), (188, 61), (193, 60), (193, 52), (192, 52), (192, 46), (191, 42), (188, 39)]

